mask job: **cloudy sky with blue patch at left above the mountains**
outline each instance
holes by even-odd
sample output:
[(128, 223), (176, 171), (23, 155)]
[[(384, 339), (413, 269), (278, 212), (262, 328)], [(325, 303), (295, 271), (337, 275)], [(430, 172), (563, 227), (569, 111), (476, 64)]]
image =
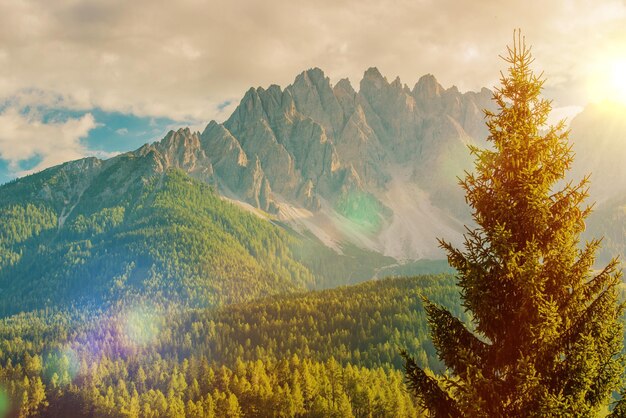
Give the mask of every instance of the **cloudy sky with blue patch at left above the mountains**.
[(202, 130), (312, 67), (492, 88), (515, 28), (556, 116), (626, 100), (626, 0), (0, 0), (0, 184)]

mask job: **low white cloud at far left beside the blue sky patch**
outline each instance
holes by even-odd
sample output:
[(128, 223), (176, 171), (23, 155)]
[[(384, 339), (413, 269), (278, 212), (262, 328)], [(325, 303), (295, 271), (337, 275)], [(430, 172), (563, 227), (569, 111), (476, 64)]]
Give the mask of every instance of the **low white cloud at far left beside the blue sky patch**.
[[(44, 121), (37, 111), (6, 107), (0, 112), (0, 158), (8, 161), (12, 173), (22, 176), (90, 152), (81, 144), (96, 127), (87, 113), (78, 118)], [(21, 163), (37, 159), (35, 167), (23, 170)]]

